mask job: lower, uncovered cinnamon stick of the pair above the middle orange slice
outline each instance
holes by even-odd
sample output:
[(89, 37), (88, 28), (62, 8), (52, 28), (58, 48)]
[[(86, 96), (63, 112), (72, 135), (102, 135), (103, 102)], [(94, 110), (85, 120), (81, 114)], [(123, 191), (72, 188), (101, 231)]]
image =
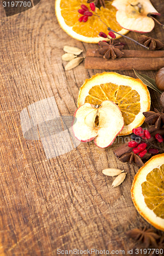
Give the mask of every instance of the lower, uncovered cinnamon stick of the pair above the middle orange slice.
[(86, 57), (86, 69), (102, 70), (159, 70), (164, 67), (164, 57), (116, 58)]

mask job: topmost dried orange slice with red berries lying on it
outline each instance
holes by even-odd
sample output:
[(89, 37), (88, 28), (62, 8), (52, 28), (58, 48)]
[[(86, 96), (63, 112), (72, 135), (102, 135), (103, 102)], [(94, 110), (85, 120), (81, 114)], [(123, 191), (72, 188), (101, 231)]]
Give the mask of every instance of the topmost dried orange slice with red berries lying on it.
[[(126, 34), (128, 30), (122, 29), (116, 21), (116, 8), (112, 6), (112, 1), (105, 1), (105, 7), (100, 9), (96, 8), (95, 14), (100, 16), (101, 20), (97, 16), (91, 16), (87, 22), (79, 22), (78, 19), (82, 15), (78, 13), (78, 9), (81, 9), (81, 4), (84, 4), (90, 10), (90, 5), (85, 0), (56, 0), (55, 10), (58, 22), (61, 28), (71, 37), (83, 41), (97, 43), (100, 40), (104, 40), (103, 37), (99, 37), (99, 32), (108, 34), (107, 26), (121, 34)], [(107, 26), (105, 26), (105, 24)], [(120, 36), (116, 34), (116, 37)], [(110, 40), (107, 38), (107, 40)]]

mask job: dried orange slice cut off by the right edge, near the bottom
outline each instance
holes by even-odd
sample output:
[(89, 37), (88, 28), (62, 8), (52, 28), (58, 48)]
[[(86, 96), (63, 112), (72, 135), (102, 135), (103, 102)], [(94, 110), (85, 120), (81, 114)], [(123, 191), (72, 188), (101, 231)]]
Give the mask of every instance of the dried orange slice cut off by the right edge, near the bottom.
[(164, 231), (164, 153), (140, 168), (132, 183), (131, 198), (141, 216)]

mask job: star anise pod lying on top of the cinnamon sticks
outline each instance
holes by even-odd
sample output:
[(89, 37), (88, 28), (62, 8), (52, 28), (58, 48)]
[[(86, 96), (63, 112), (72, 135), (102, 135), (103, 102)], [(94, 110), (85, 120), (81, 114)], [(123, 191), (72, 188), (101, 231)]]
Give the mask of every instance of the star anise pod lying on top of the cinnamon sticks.
[(100, 49), (97, 49), (98, 53), (104, 55), (103, 57), (106, 59), (115, 59), (121, 58), (123, 56), (123, 52), (121, 51), (124, 48), (124, 45), (121, 42), (114, 42), (111, 39), (108, 43), (104, 41), (99, 41)]

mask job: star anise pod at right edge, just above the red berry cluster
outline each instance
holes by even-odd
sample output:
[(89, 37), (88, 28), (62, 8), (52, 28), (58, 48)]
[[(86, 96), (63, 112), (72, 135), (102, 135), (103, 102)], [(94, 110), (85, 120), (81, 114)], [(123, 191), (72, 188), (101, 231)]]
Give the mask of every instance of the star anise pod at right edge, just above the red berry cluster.
[(157, 109), (154, 109), (154, 111), (143, 112), (143, 115), (146, 117), (145, 122), (155, 125), (155, 129), (159, 129), (164, 124), (163, 110), (159, 112)]

